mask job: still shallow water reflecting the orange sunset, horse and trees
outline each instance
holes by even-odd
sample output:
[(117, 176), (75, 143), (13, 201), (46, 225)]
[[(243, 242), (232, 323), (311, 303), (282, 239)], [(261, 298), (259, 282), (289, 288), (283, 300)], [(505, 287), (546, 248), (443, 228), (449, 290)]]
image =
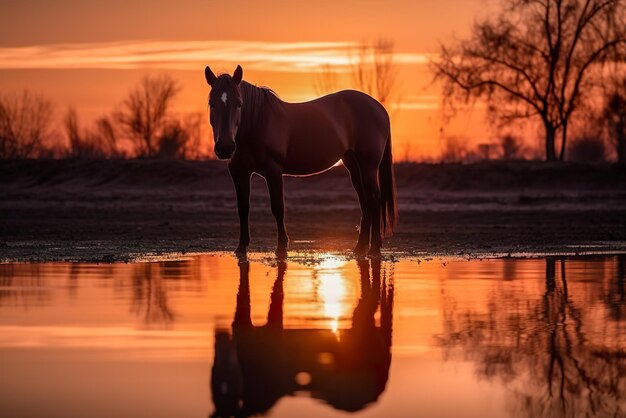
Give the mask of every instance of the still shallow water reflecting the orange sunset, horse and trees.
[(626, 257), (0, 265), (7, 417), (624, 416)]

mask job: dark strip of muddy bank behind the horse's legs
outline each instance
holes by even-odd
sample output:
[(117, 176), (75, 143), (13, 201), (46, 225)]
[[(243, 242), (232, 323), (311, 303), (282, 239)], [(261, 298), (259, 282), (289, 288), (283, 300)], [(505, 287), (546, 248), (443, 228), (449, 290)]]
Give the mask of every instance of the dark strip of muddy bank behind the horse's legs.
[[(396, 166), (400, 223), (386, 255), (489, 257), (626, 250), (626, 170), (532, 162)], [(290, 250), (348, 253), (359, 210), (347, 172), (286, 179)], [(231, 251), (226, 165), (180, 161), (0, 163), (0, 260), (128, 261)], [(275, 225), (253, 179), (253, 251)]]

